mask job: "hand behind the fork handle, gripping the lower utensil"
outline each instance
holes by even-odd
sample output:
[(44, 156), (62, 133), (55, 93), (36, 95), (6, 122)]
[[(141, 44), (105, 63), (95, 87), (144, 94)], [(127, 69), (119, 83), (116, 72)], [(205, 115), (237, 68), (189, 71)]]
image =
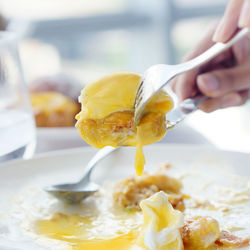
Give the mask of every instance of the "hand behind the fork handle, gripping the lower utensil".
[[(208, 30), (184, 61), (200, 55), (214, 44), (212, 38), (216, 27), (213, 25)], [(244, 104), (250, 94), (249, 38), (243, 38), (206, 65), (180, 75), (172, 82), (172, 88), (180, 100), (198, 93), (210, 97), (199, 106), (205, 112)]]

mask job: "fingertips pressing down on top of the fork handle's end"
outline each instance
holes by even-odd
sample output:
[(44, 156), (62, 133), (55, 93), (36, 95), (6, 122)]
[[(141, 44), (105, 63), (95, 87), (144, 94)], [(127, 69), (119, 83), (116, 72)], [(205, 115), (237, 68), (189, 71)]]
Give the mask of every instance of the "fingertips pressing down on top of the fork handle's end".
[(226, 42), (236, 32), (238, 27), (250, 28), (250, 0), (231, 0), (221, 22), (219, 23), (213, 40)]

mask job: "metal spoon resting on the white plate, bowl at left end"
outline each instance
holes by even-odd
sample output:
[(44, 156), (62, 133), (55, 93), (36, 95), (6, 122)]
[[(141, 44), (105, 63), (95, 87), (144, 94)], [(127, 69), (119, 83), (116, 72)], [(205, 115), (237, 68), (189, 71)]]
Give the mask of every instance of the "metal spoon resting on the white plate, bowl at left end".
[(92, 170), (100, 160), (107, 157), (116, 149), (117, 148), (107, 146), (99, 150), (87, 164), (83, 177), (78, 182), (52, 185), (45, 187), (44, 190), (55, 196), (57, 199), (67, 203), (81, 202), (99, 189), (99, 185), (90, 181)]

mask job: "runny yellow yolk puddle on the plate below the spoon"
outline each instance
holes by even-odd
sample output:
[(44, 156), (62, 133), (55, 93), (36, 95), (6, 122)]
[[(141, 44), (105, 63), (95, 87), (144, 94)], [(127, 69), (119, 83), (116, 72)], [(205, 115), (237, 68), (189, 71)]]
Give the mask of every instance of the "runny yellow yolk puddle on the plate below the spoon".
[[(117, 233), (112, 238), (98, 239), (90, 236), (95, 218), (83, 218), (79, 215), (56, 213), (51, 219), (38, 220), (36, 231), (46, 237), (68, 242), (69, 250), (128, 250), (135, 245), (138, 232), (132, 229), (128, 233)], [(92, 238), (92, 239), (91, 239)]]

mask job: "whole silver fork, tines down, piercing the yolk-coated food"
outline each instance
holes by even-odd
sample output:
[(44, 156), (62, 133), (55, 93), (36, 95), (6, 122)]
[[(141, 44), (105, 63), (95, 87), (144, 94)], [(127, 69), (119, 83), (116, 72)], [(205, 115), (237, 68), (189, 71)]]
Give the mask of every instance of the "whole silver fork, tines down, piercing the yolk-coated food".
[(152, 96), (154, 96), (160, 89), (166, 86), (171, 80), (173, 80), (173, 78), (181, 73), (187, 72), (207, 63), (215, 56), (224, 52), (237, 41), (245, 37), (249, 31), (250, 29), (248, 28), (241, 29), (228, 42), (216, 43), (203, 54), (185, 63), (176, 65), (157, 64), (147, 69), (141, 78), (141, 82), (136, 93), (134, 103), (135, 125), (139, 124), (140, 119), (143, 116), (144, 108)]

